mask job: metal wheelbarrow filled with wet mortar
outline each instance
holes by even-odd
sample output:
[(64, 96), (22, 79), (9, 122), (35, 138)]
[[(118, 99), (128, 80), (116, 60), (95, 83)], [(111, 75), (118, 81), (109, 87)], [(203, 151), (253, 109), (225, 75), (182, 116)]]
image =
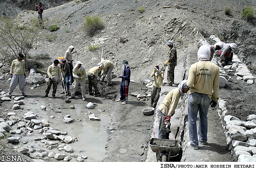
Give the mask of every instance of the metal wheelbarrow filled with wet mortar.
[(177, 140), (151, 138), (149, 146), (156, 153), (157, 161), (180, 161), (182, 147)]

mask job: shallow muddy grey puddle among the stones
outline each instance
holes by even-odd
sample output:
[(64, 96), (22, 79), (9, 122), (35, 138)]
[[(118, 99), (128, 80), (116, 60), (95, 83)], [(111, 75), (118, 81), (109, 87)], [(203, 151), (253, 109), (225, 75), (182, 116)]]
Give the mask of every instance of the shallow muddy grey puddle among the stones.
[[(72, 100), (72, 102), (75, 102), (75, 100)], [(111, 105), (99, 104), (98, 106), (94, 107), (94, 109), (87, 109), (87, 103), (88, 102), (85, 104), (62, 103), (62, 105), (56, 105), (56, 103), (37, 101), (37, 104), (27, 104), (23, 105), (23, 107), (26, 112), (35, 112), (38, 120), (48, 119), (50, 121), (49, 127), (58, 129), (60, 131), (66, 131), (68, 136), (77, 138), (77, 141), (66, 144), (70, 145), (74, 150), (74, 152), (70, 154), (76, 154), (78, 156), (83, 154), (84, 156), (88, 157), (85, 161), (102, 161), (107, 156), (105, 146), (107, 144), (107, 138), (110, 132), (108, 127), (111, 123)], [(40, 109), (41, 105), (45, 105), (47, 107), (46, 111), (42, 111)], [(70, 109), (71, 105), (74, 105), (75, 109)], [(56, 107), (61, 107), (61, 109)], [(100, 121), (89, 120), (88, 116), (90, 113), (95, 114), (98, 118), (100, 118)], [(65, 123), (64, 116), (66, 115), (70, 115), (70, 117), (75, 121), (69, 124)], [(50, 116), (54, 116), (54, 118), (50, 118)], [(14, 137), (20, 136), (20, 134), (14, 134)], [(64, 152), (65, 154), (68, 154), (65, 151), (59, 151), (57, 148), (48, 150), (44, 143), (42, 143), (40, 140), (34, 140), (34, 138), (42, 137), (44, 137), (44, 135), (37, 133), (22, 136), (20, 139), (21, 143), (16, 146), (23, 146), (29, 149), (34, 148), (35, 150), (43, 149), (47, 152)], [(28, 143), (22, 144), (23, 140), (28, 140)], [(31, 153), (32, 156), (36, 156), (36, 154), (37, 151)], [(71, 161), (75, 161), (75, 158), (72, 158)]]

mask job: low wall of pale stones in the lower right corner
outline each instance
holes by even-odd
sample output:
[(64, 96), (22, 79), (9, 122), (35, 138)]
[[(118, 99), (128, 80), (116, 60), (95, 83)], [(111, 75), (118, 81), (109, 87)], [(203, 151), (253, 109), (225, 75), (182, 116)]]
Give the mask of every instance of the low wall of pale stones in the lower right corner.
[(247, 116), (247, 121), (239, 120), (237, 117), (226, 115), (226, 100), (219, 99), (218, 111), (222, 122), (227, 145), (232, 150), (238, 162), (256, 161), (256, 115)]

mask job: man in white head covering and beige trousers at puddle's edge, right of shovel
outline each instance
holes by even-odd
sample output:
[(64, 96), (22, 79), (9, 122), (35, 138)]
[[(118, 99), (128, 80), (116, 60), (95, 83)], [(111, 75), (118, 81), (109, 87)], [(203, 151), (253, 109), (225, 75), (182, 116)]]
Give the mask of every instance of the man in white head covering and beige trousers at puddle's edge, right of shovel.
[(82, 98), (85, 101), (85, 94), (86, 94), (86, 84), (85, 84), (85, 76), (86, 72), (84, 67), (82, 66), (81, 61), (77, 61), (72, 73), (74, 76), (74, 83), (72, 84), (73, 89), (71, 90), (71, 95), (69, 98), (74, 98), (75, 92), (78, 90), (78, 87), (80, 85), (81, 87), (81, 93), (82, 93)]

